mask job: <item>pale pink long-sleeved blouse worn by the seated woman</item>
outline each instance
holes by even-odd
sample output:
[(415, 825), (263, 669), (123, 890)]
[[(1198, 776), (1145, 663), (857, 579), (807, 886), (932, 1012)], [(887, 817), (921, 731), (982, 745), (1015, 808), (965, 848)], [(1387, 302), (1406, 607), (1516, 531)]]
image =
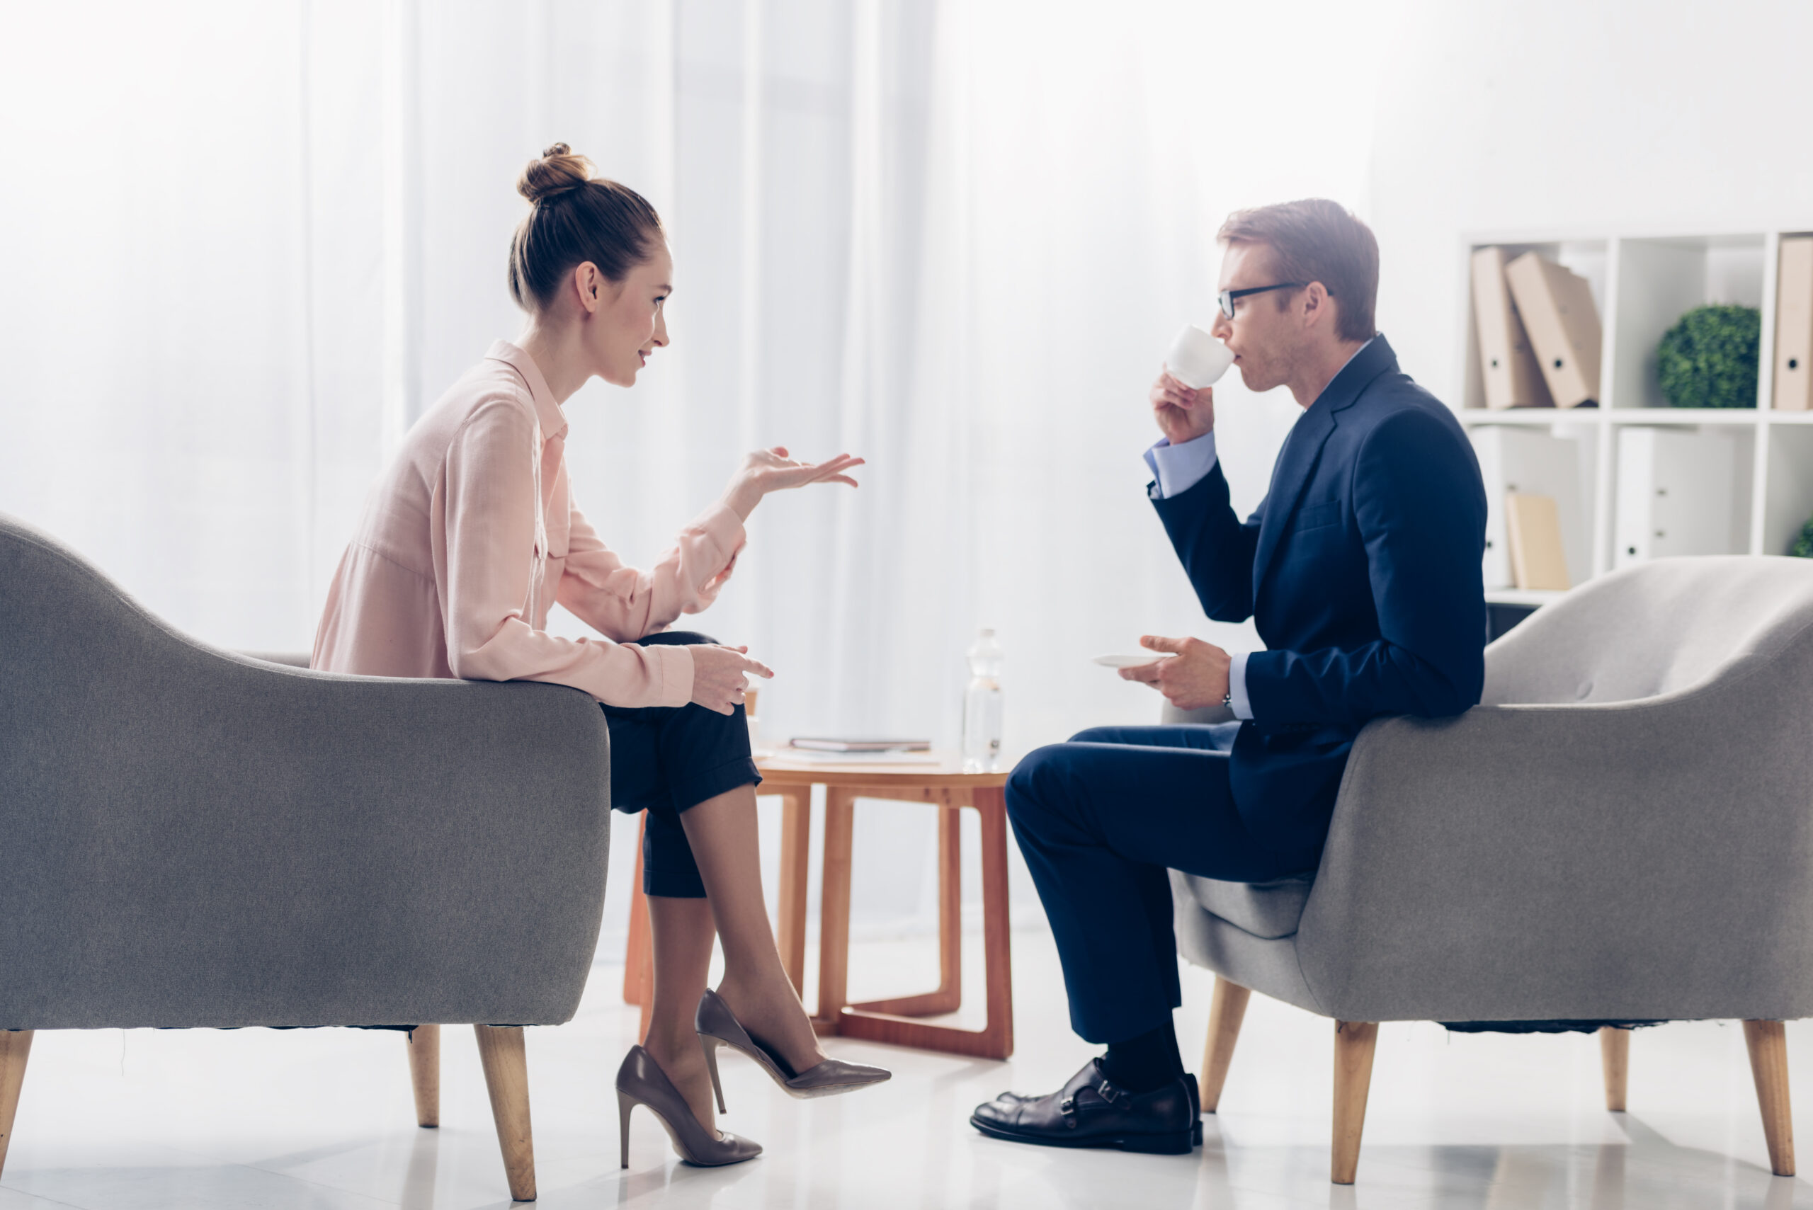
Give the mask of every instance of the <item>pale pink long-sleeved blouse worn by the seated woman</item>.
[[(366, 676), (553, 681), (613, 706), (684, 706), (685, 647), (636, 647), (711, 605), (743, 547), (722, 504), (649, 571), (624, 567), (573, 505), (567, 422), (542, 371), (499, 341), (402, 442), (328, 587), (312, 667)], [(604, 634), (548, 634), (560, 601)]]

